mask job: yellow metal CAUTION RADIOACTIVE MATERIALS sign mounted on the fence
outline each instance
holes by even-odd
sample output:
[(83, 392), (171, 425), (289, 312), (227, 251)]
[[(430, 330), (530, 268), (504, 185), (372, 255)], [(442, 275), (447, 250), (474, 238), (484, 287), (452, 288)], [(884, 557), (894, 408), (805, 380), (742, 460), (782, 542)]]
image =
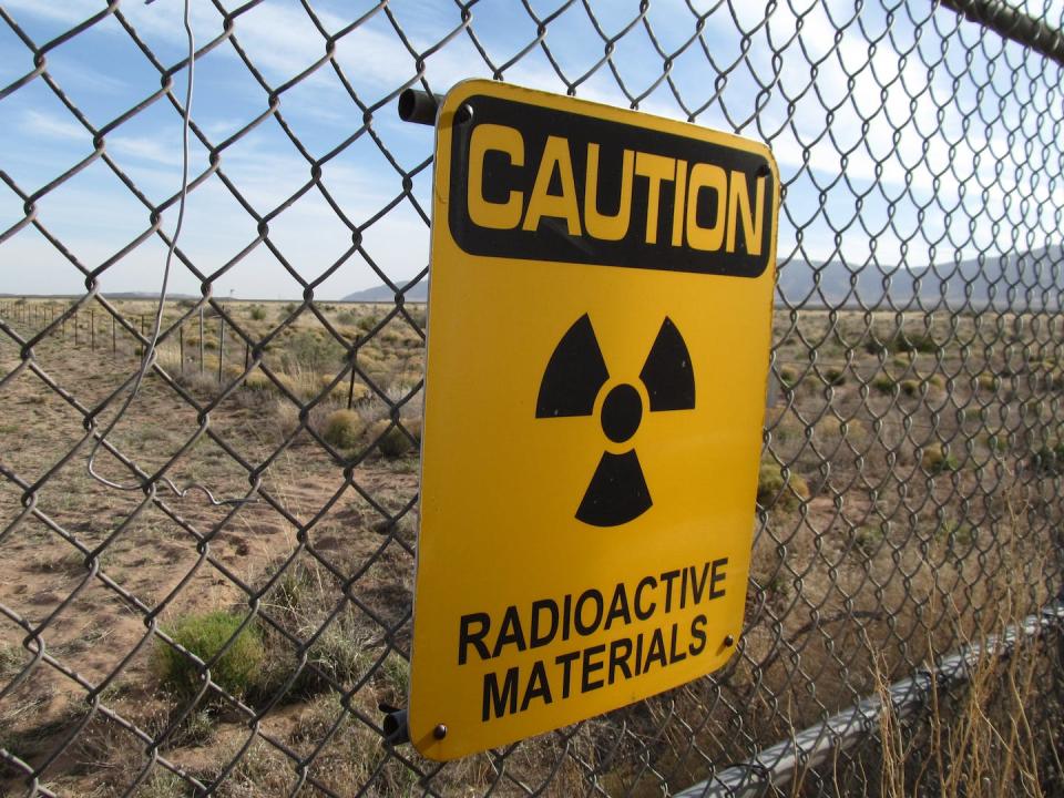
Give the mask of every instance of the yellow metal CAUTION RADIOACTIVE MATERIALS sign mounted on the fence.
[(408, 723), (452, 759), (735, 651), (779, 177), (761, 144), (495, 82), (437, 125)]

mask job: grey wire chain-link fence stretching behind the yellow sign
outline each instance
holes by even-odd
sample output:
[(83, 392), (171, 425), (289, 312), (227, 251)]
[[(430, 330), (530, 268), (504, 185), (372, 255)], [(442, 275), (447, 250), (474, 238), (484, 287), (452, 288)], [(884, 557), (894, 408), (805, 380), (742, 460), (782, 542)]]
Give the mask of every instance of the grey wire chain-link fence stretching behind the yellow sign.
[[(182, 200), (183, 9), (0, 6), (0, 794), (703, 794), (806, 727), (829, 754), (796, 740), (788, 792), (986, 758), (1064, 790), (1045, 640), (910, 679), (920, 712), (856, 740), (817, 726), (1062, 589), (1062, 9), (1035, 4), (197, 0), (173, 295), (105, 436)], [(468, 76), (763, 140), (785, 194), (737, 655), (444, 766), (382, 727), (432, 146), (396, 101)]]

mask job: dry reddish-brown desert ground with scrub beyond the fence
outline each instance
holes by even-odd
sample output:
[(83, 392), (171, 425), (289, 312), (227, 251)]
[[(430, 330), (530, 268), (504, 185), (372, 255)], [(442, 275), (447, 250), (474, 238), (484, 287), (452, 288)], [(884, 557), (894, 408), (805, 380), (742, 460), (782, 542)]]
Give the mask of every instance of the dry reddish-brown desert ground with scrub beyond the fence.
[(740, 656), (439, 769), (380, 734), (407, 689), (424, 307), (168, 303), (94, 475), (154, 309), (0, 299), (0, 794), (43, 767), (101, 797), (659, 795), (1060, 586), (1058, 316), (777, 309)]

